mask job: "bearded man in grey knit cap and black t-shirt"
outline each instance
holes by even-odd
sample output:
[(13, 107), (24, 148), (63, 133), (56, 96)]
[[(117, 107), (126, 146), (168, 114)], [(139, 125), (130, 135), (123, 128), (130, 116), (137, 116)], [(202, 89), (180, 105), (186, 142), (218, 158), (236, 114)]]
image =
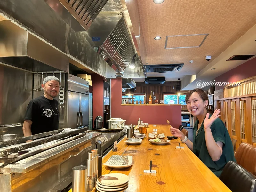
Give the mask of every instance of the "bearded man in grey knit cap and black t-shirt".
[(55, 76), (48, 76), (41, 86), (44, 95), (32, 99), (28, 104), (22, 127), (24, 137), (59, 128), (59, 103), (54, 98), (59, 94), (60, 80)]

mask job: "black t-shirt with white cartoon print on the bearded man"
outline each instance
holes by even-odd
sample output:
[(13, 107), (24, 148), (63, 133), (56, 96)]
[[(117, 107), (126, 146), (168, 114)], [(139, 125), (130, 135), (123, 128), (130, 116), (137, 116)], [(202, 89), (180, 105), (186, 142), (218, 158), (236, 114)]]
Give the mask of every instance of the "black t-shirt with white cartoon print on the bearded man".
[(59, 128), (58, 101), (49, 100), (44, 95), (32, 99), (27, 107), (24, 120), (32, 121), (32, 135), (57, 130)]

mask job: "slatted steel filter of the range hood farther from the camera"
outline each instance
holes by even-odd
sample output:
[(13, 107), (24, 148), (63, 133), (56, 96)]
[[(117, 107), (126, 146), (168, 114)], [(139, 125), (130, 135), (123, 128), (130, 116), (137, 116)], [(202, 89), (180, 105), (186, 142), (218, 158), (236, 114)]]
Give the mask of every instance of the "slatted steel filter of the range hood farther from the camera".
[(111, 56), (111, 61), (123, 71), (132, 61), (135, 53), (123, 18), (118, 21), (116, 27), (104, 41), (101, 48), (107, 55)]

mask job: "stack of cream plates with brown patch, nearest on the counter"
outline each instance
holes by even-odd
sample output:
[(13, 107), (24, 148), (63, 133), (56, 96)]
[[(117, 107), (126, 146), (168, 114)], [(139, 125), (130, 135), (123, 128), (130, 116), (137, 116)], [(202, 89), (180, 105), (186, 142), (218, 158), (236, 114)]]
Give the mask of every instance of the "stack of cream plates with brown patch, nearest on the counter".
[(122, 192), (128, 188), (129, 177), (122, 173), (110, 173), (102, 175), (96, 182), (99, 192)]

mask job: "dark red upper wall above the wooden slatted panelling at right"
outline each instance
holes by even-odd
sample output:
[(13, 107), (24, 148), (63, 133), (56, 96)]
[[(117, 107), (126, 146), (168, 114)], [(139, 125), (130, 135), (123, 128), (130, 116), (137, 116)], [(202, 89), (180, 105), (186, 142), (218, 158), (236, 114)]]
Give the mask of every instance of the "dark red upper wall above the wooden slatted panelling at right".
[[(232, 61), (229, 61), (232, 62)], [(215, 78), (216, 82), (236, 82), (256, 75), (256, 57)], [(215, 90), (224, 87), (215, 87)]]

